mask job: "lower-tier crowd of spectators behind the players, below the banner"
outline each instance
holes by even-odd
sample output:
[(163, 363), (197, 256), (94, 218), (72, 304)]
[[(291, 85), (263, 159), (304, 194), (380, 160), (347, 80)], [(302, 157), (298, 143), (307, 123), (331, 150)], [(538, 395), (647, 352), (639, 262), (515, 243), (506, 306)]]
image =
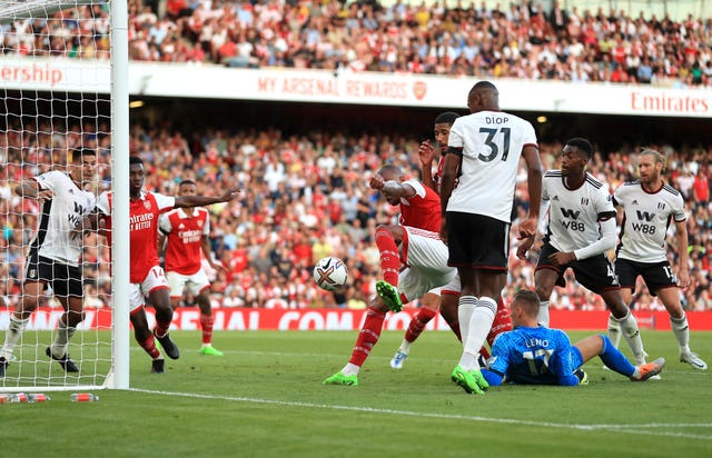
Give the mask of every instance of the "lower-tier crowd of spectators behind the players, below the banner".
[[(226, 272), (210, 271), (211, 300), (216, 307), (349, 307), (363, 308), (374, 295), (379, 278), (379, 256), (374, 229), (395, 222), (397, 215), (367, 180), (385, 161), (399, 165), (418, 176), (417, 138), (400, 136), (346, 136), (314, 130), (283, 135), (278, 128), (196, 130), (184, 136), (170, 123), (131, 128), (132, 155), (144, 158), (148, 168), (146, 187), (174, 195), (181, 179), (198, 183), (198, 192), (215, 195), (228, 186), (243, 189), (238, 200), (215, 205), (211, 211), (210, 245)], [(97, 149), (101, 165), (95, 191), (110, 185), (110, 139), (107, 126), (75, 126), (66, 133), (51, 132), (50, 126), (29, 126), (0, 132), (0, 296), (16, 303), (21, 293), (26, 248), (36, 230), (39, 207), (11, 192), (18, 180), (52, 168), (61, 168), (66, 151), (85, 146)], [(690, 235), (690, 267), (694, 286), (682, 292), (690, 310), (712, 309), (712, 149), (673, 149), (652, 146), (669, 159), (666, 178), (685, 197)], [(562, 145), (541, 146), (547, 169), (558, 167)], [(708, 147), (709, 148), (709, 147)], [(611, 189), (635, 177), (633, 146), (619, 151), (599, 151), (591, 172)], [(526, 173), (517, 186), (517, 213), (527, 206)], [(517, 219), (518, 219), (517, 218)], [(516, 227), (517, 221), (514, 221)], [(674, 230), (674, 226), (671, 226)], [(670, 233), (672, 241), (672, 233)], [(512, 237), (512, 240), (516, 240)], [(516, 241), (515, 241), (516, 243)], [(520, 287), (533, 287), (536, 252), (521, 261), (511, 251), (506, 297)], [(679, 253), (674, 242), (669, 250), (673, 266)], [(312, 266), (324, 256), (343, 258), (349, 271), (345, 295), (319, 290), (312, 281)], [(87, 305), (109, 303), (110, 252), (103, 239), (86, 239), (81, 265), (87, 285)], [(565, 289), (556, 289), (556, 308), (602, 310), (600, 297), (568, 278)], [(48, 301), (50, 299), (48, 295)], [(191, 302), (186, 296), (185, 301)], [(417, 302), (416, 302), (417, 306)], [(645, 288), (635, 295), (639, 310), (662, 309)]]

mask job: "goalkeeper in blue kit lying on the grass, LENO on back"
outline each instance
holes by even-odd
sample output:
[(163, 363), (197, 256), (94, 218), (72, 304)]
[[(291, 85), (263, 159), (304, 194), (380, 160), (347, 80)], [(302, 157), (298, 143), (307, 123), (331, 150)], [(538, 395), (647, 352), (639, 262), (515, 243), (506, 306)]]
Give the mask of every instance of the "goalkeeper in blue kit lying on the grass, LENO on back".
[(560, 329), (538, 326), (536, 318), (541, 302), (534, 291), (520, 290), (514, 295), (512, 322), (514, 330), (497, 337), (492, 357), (482, 375), (490, 386), (503, 382), (521, 385), (587, 385), (589, 377), (581, 368), (594, 357), (632, 381), (643, 381), (660, 374), (665, 360), (633, 366), (604, 335), (587, 337), (571, 345)]

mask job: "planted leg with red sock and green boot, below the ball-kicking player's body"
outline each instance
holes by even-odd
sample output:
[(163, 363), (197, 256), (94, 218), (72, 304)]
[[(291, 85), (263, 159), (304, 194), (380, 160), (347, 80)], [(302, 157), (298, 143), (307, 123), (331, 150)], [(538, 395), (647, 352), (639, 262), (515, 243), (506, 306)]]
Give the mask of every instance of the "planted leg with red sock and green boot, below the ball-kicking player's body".
[[(406, 271), (409, 269), (406, 269)], [(403, 275), (402, 275), (403, 277)], [(370, 350), (378, 342), (386, 319), (388, 306), (378, 296), (374, 297), (366, 309), (364, 325), (358, 331), (352, 357), (342, 370), (324, 380), (323, 385), (358, 386), (358, 371), (370, 355)]]

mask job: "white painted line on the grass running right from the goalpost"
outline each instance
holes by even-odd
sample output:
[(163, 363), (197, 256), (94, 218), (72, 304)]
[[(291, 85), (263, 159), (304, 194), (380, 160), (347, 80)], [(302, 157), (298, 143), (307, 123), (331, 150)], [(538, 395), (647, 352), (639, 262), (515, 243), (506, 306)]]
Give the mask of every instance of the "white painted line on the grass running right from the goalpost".
[[(339, 406), (339, 405), (328, 405), (328, 404), (313, 404), (313, 402), (298, 402), (298, 401), (284, 401), (276, 399), (259, 399), (259, 398), (247, 398), (241, 396), (217, 396), (217, 395), (200, 395), (197, 392), (178, 392), (178, 391), (161, 391), (161, 390), (150, 390), (150, 389), (141, 389), (141, 388), (130, 388), (129, 391), (137, 392), (146, 392), (149, 395), (159, 395), (159, 396), (175, 396), (181, 398), (194, 398), (194, 399), (214, 399), (214, 400), (227, 400), (235, 402), (249, 402), (249, 404), (266, 404), (274, 406), (287, 406), (287, 407), (306, 407), (306, 408), (317, 408), (317, 409), (332, 409), (332, 410), (352, 410), (358, 412), (369, 412), (369, 414), (385, 414), (385, 415), (399, 415), (405, 417), (427, 417), (427, 418), (438, 418), (446, 420), (467, 420), (467, 421), (482, 421), (482, 422), (492, 422), (492, 424), (506, 424), (506, 425), (522, 425), (522, 426), (535, 426), (543, 428), (560, 428), (560, 429), (574, 429), (582, 431), (610, 431), (610, 432), (627, 432), (633, 435), (641, 436), (668, 436), (683, 439), (701, 439), (701, 440), (712, 440), (712, 436), (709, 435), (694, 435), (689, 432), (673, 432), (673, 431), (661, 431), (659, 428), (671, 429), (671, 428), (712, 428), (712, 424), (647, 424), (647, 425), (566, 425), (566, 424), (554, 424), (548, 421), (532, 421), (532, 420), (517, 420), (513, 418), (487, 418), (487, 417), (477, 417), (477, 416), (467, 416), (467, 415), (446, 415), (446, 414), (433, 414), (433, 412), (418, 412), (411, 410), (393, 410), (393, 409), (376, 409), (373, 407), (355, 407), (355, 406)], [(639, 429), (640, 428), (640, 429)], [(651, 429), (651, 430), (645, 430)]]

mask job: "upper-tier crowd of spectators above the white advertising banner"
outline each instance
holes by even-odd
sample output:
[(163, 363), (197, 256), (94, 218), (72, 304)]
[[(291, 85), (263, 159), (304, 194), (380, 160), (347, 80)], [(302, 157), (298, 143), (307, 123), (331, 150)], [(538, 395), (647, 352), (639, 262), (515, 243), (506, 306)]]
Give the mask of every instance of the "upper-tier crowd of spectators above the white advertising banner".
[[(645, 11), (459, 0), (156, 4), (129, 0), (134, 60), (712, 86), (712, 18), (691, 14), (674, 21)], [(0, 44), (4, 52), (106, 59), (108, 32), (106, 6), (81, 7), (0, 26)]]

